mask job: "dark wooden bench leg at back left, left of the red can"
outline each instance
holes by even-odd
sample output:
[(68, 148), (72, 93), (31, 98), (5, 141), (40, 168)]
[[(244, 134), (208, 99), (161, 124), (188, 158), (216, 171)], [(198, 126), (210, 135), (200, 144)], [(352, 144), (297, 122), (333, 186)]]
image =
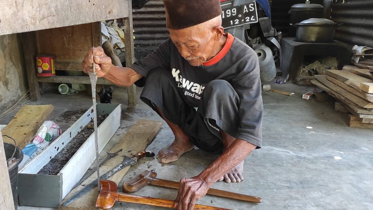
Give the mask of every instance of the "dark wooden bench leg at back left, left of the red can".
[(30, 97), (32, 101), (39, 101), (41, 98), (40, 95), (40, 85), (36, 81), (36, 64), (35, 64), (35, 32), (26, 32), (22, 33), (23, 41), (23, 52), (25, 54), (26, 62), (26, 72), (28, 78), (28, 87), (30, 89)]

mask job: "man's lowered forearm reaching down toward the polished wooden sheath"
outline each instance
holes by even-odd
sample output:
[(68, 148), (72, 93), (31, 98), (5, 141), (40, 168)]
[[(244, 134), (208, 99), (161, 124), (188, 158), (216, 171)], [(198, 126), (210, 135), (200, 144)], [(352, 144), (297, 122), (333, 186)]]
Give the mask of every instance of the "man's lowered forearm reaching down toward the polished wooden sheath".
[(257, 146), (242, 139), (236, 139), (223, 154), (198, 175), (211, 186), (229, 170), (241, 163)]

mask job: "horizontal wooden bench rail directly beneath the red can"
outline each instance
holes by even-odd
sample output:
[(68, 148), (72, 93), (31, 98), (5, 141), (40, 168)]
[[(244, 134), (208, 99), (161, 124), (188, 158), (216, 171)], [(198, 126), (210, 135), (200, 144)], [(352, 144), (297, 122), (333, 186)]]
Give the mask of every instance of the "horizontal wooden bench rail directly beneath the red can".
[[(91, 84), (90, 77), (84, 76), (53, 76), (53, 77), (37, 77), (39, 82), (47, 83), (79, 83), (79, 84)], [(97, 84), (113, 84), (109, 80), (104, 78), (97, 78)], [(97, 90), (99, 91), (99, 90)]]

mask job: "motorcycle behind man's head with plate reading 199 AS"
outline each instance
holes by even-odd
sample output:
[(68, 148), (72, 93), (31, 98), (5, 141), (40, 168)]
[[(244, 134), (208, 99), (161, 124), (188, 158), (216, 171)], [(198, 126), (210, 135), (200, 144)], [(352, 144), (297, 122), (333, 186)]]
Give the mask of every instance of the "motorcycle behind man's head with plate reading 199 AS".
[(282, 33), (271, 24), (268, 0), (220, 0), (224, 31), (252, 47), (260, 65), (260, 79), (275, 78), (280, 65)]

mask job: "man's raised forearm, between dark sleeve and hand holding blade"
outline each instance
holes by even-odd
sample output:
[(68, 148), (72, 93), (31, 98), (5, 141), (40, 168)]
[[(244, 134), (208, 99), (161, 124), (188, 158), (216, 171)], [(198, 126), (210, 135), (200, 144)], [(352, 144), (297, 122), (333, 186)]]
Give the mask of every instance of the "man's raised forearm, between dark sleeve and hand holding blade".
[(114, 83), (116, 86), (128, 87), (142, 78), (142, 75), (135, 72), (132, 68), (112, 65), (110, 71), (104, 78)]

